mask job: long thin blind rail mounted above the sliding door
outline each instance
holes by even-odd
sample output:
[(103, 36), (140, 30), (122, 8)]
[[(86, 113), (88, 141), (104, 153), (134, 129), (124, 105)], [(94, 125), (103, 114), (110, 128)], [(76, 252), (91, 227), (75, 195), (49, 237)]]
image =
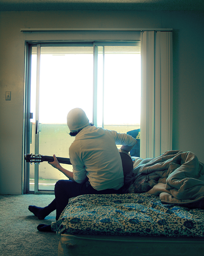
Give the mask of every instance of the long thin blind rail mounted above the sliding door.
[(21, 28), (20, 31), (172, 31), (172, 28)]

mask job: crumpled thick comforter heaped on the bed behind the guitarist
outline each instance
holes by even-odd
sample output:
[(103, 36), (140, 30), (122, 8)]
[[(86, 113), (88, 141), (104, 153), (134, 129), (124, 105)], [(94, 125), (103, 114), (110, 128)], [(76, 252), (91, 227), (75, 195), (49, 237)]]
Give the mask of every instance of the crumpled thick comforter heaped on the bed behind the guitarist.
[(125, 177), (124, 193), (157, 195), (164, 204), (204, 208), (204, 164), (192, 152), (168, 150), (144, 159)]

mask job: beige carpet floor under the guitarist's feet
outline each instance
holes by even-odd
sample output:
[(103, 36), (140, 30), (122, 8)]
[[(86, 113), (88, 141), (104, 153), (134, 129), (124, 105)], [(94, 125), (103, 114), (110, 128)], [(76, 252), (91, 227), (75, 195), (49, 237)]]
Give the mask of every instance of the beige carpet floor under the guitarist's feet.
[(0, 195), (0, 256), (57, 256), (60, 237), (39, 232), (37, 225), (55, 221), (56, 212), (38, 220), (29, 205), (45, 207), (54, 195)]

